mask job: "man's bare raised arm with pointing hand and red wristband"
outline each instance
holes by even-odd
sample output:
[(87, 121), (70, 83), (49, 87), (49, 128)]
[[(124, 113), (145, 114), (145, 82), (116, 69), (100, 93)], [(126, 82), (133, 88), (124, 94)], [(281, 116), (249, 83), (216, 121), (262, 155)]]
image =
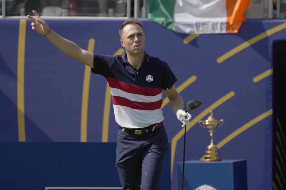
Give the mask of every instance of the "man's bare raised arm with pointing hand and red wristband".
[(35, 14), (36, 18), (27, 15), (27, 17), (33, 21), (31, 23), (33, 30), (46, 36), (53, 44), (55, 44), (55, 46), (63, 51), (63, 53), (66, 53), (72, 58), (77, 59), (78, 61), (93, 68), (93, 53), (90, 53), (80, 48), (74, 42), (59, 36), (49, 28), (48, 24), (41, 19), (40, 15), (36, 11), (33, 10), (33, 13)]

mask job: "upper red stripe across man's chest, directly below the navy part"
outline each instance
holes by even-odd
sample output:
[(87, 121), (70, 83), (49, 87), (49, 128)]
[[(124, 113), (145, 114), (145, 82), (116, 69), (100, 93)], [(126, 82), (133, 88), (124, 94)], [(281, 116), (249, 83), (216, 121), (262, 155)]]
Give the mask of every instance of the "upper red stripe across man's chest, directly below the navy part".
[(108, 77), (108, 84), (111, 88), (118, 88), (122, 91), (132, 93), (132, 94), (140, 94), (143, 96), (156, 96), (162, 92), (162, 88), (150, 88), (144, 86), (137, 86), (134, 84), (124, 83), (122, 81), (116, 80), (115, 78)]

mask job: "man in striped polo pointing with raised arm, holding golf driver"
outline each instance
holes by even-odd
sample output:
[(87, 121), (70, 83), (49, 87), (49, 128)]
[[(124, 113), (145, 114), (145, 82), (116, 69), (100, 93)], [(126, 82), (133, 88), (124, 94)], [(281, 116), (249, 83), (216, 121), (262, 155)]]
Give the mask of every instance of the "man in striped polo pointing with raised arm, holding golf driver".
[(97, 55), (60, 37), (33, 11), (27, 16), (32, 29), (46, 36), (67, 55), (91, 67), (94, 74), (106, 77), (113, 99), (115, 120), (119, 124), (116, 167), (123, 189), (156, 190), (168, 149), (162, 105), (162, 89), (170, 106), (184, 125), (191, 115), (185, 113), (183, 99), (175, 89), (176, 78), (166, 62), (145, 53), (145, 36), (138, 19), (122, 23), (122, 55)]

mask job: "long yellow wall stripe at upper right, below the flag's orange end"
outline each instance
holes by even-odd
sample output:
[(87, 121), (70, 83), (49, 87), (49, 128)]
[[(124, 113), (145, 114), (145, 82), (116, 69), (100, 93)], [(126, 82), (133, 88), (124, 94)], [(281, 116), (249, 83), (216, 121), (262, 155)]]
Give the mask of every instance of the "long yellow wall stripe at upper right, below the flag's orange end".
[(226, 59), (230, 58), (231, 56), (233, 56), (234, 54), (240, 52), (241, 50), (245, 49), (246, 47), (258, 42), (259, 40), (262, 40), (280, 30), (283, 30), (286, 28), (286, 23), (282, 23), (272, 29), (269, 29), (253, 38), (251, 38), (250, 40), (242, 43), (241, 45), (233, 48), (232, 50), (230, 50), (229, 52), (223, 54), (222, 56), (220, 56), (219, 58), (217, 58), (217, 63), (221, 63), (223, 61), (225, 61)]

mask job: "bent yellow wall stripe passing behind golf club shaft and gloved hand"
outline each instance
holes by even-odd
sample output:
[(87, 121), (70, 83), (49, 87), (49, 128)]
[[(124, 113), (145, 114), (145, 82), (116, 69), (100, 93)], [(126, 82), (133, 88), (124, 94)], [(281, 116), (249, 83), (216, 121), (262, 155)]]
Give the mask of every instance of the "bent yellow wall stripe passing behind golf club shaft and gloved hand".
[[(232, 96), (234, 96), (234, 91), (229, 92), (228, 94), (226, 94), (225, 96), (223, 96), (222, 98), (217, 100), (215, 103), (210, 105), (208, 108), (206, 108), (202, 113), (200, 113), (197, 117), (195, 117), (194, 119), (192, 119), (190, 121), (190, 124), (188, 126), (186, 126), (186, 131), (191, 129), (192, 126), (194, 126), (196, 123), (198, 123), (198, 121), (200, 119), (202, 119), (204, 116), (209, 114), (210, 110), (214, 110), (215, 108), (217, 108), (218, 106), (220, 106), (221, 104), (226, 102), (228, 99), (230, 99)], [(172, 143), (171, 143), (171, 179), (172, 179), (172, 174), (173, 174), (173, 165), (174, 165), (174, 158), (175, 158), (175, 151), (176, 151), (177, 142), (182, 136), (184, 136), (184, 133), (185, 133), (185, 129), (181, 129), (180, 132), (178, 132), (175, 135), (175, 137), (172, 138)]]

